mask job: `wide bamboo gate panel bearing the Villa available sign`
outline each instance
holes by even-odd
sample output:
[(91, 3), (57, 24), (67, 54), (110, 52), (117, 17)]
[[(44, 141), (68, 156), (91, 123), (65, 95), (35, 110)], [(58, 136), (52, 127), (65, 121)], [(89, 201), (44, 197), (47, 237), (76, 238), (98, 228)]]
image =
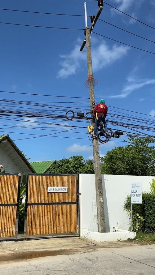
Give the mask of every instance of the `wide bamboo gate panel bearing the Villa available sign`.
[[(67, 191), (48, 192), (48, 187)], [(24, 238), (79, 235), (78, 188), (76, 174), (27, 175)]]

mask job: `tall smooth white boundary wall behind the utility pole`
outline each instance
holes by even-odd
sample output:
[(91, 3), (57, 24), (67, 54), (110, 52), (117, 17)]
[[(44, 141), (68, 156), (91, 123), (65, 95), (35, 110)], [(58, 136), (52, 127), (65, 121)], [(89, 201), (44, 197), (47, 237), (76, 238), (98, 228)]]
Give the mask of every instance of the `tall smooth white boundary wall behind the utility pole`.
[[(123, 212), (123, 204), (126, 196), (130, 195), (131, 183), (141, 182), (142, 191), (149, 192), (149, 182), (152, 182), (153, 178), (155, 177), (102, 175), (106, 232), (112, 232), (113, 226), (116, 225), (123, 230), (129, 229), (130, 221)], [(82, 236), (85, 229), (98, 231), (94, 174), (80, 174), (79, 184), (80, 235)]]

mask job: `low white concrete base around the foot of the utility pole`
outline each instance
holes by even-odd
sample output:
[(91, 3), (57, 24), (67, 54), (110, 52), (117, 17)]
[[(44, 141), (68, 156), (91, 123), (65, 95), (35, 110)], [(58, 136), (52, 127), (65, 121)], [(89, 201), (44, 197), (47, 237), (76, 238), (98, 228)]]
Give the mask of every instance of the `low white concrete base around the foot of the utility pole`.
[(99, 233), (83, 229), (81, 237), (89, 238), (97, 242), (126, 241), (127, 239), (135, 239), (136, 232), (117, 230), (116, 232)]

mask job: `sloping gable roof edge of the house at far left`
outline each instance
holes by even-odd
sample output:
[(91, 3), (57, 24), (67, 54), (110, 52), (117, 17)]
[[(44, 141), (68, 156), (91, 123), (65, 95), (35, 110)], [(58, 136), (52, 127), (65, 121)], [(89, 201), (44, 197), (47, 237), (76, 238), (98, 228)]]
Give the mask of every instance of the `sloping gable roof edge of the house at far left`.
[(9, 135), (0, 135), (0, 146), (20, 169), (22, 173), (36, 173), (29, 161), (24, 157), (19, 148), (11, 140)]

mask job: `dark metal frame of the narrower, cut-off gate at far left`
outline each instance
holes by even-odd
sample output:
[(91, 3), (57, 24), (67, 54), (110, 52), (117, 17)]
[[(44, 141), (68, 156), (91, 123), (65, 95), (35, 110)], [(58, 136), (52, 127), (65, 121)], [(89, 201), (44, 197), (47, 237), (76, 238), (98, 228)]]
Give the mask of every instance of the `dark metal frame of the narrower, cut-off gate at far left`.
[(11, 236), (11, 237), (0, 237), (0, 241), (1, 240), (10, 240), (10, 239), (16, 239), (17, 240), (17, 236), (18, 236), (18, 220), (19, 220), (19, 203), (20, 203), (20, 182), (21, 182), (21, 174), (11, 174), (11, 173), (2, 173), (3, 175), (13, 175), (13, 176), (17, 176), (18, 175), (18, 191), (17, 191), (17, 203), (15, 204), (0, 204), (0, 206), (17, 206), (17, 211), (16, 211), (16, 223), (15, 223), (15, 236)]

